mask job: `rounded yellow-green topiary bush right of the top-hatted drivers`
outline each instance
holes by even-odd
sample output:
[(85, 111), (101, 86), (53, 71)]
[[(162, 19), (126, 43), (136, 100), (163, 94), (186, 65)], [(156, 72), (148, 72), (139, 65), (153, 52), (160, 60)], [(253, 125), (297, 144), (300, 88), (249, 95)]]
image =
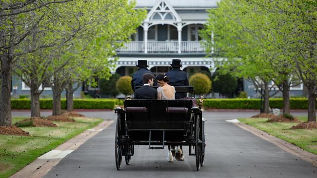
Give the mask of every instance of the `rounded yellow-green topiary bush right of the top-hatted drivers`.
[(189, 77), (189, 85), (195, 89), (195, 94), (207, 94), (211, 89), (211, 80), (206, 74), (196, 73)]

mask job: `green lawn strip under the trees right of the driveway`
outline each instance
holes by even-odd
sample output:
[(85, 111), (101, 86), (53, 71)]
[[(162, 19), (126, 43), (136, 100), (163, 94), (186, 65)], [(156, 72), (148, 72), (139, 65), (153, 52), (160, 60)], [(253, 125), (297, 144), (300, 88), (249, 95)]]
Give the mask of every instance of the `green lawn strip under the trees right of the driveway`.
[[(307, 117), (297, 119), (305, 122)], [(266, 123), (267, 118), (243, 118), (240, 122), (251, 125), (317, 155), (317, 129), (289, 129), (298, 123)]]

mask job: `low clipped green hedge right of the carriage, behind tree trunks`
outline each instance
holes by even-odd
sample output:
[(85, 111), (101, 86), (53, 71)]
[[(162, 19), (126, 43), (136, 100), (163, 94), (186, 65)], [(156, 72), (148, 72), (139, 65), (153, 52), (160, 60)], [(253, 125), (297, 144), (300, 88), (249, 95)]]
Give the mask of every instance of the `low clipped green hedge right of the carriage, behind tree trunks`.
[[(261, 106), (260, 99), (205, 99), (204, 108), (215, 109), (259, 109)], [(282, 98), (270, 99), (271, 108), (283, 108)], [(316, 105), (317, 107), (317, 105)], [(307, 98), (291, 98), (291, 109), (308, 109)]]

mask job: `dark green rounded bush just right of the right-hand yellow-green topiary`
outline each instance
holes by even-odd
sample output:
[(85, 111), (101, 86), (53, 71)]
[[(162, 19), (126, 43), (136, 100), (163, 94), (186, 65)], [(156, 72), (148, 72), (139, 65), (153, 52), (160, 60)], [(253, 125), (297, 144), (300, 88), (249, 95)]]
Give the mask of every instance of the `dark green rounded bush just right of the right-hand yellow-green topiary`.
[(232, 76), (230, 73), (222, 74), (218, 71), (215, 71), (212, 79), (212, 86), (215, 92), (228, 95), (233, 93), (237, 89), (237, 77)]

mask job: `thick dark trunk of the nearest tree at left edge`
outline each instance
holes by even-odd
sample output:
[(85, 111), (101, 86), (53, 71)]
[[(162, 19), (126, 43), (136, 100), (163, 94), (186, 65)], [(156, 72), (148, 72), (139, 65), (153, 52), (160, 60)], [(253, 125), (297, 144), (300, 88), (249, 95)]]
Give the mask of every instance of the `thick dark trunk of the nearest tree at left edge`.
[(11, 117), (11, 55), (1, 58), (0, 126), (12, 125)]

